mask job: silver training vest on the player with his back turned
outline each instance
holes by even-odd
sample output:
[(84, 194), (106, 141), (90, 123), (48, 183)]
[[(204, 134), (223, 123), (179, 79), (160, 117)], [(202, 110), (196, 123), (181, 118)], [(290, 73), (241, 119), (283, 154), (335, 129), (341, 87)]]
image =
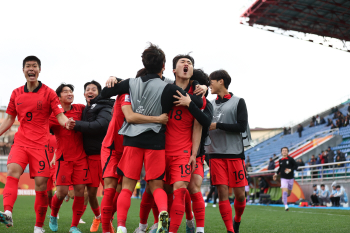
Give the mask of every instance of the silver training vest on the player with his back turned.
[[(151, 78), (145, 82), (142, 82), (140, 77), (130, 78), (129, 89), (132, 111), (142, 115), (161, 115), (160, 98), (166, 84), (160, 78)], [(118, 133), (126, 136), (137, 136), (149, 130), (159, 132), (160, 128), (161, 123), (130, 124), (124, 122)]]

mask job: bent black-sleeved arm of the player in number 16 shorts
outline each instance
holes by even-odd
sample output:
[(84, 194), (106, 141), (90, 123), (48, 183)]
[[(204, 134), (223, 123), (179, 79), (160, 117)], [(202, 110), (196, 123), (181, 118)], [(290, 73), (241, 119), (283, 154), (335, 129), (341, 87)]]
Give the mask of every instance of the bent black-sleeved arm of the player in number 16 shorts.
[(237, 104), (237, 120), (234, 124), (228, 123), (211, 123), (209, 130), (214, 130), (216, 128), (229, 131), (229, 132), (245, 132), (246, 125), (248, 123), (248, 112), (246, 110), (246, 105), (244, 99), (239, 99)]

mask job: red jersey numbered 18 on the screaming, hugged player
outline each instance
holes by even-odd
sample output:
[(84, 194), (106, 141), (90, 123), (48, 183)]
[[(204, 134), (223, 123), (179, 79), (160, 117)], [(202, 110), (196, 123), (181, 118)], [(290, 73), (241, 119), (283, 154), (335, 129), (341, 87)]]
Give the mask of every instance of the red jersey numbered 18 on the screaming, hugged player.
[[(185, 89), (185, 91), (187, 90)], [(187, 92), (193, 94), (192, 86), (189, 87)], [(204, 97), (203, 106), (200, 109), (204, 109), (205, 105), (206, 100)], [(175, 105), (173, 105), (167, 115), (169, 120), (166, 123), (165, 131), (165, 155), (190, 155), (192, 150), (193, 115), (188, 111), (187, 106)]]

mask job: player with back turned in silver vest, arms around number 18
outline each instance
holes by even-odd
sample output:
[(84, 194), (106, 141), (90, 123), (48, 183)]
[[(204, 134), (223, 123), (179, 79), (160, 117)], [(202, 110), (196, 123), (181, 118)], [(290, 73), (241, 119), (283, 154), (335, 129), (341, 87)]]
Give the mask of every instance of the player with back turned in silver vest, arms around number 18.
[[(147, 75), (123, 80), (111, 88), (105, 87), (101, 95), (109, 97), (130, 93), (133, 112), (151, 116), (167, 113), (172, 107), (172, 102), (176, 100), (173, 98), (173, 94), (177, 95), (176, 90), (183, 95), (185, 91), (161, 80), (165, 54), (158, 46), (150, 43), (141, 57)], [(184, 70), (187, 71), (188, 68)], [(202, 107), (201, 96), (191, 95), (191, 97), (196, 100), (199, 107)], [(167, 232), (167, 198), (162, 189), (165, 175), (165, 126), (160, 123), (126, 123), (118, 133), (124, 135), (124, 151), (117, 166), (117, 173), (123, 175), (122, 190), (117, 200), (117, 233), (126, 232), (125, 221), (130, 207), (130, 197), (140, 177), (143, 161), (146, 181), (149, 182), (159, 210), (157, 232)]]

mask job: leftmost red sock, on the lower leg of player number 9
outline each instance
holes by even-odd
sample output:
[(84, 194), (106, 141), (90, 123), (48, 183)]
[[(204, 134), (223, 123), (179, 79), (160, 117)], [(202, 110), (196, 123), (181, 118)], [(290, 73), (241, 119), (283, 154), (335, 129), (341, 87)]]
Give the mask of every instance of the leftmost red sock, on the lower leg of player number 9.
[(7, 176), (5, 187), (3, 188), (3, 208), (12, 212), (13, 204), (17, 199), (18, 179)]

